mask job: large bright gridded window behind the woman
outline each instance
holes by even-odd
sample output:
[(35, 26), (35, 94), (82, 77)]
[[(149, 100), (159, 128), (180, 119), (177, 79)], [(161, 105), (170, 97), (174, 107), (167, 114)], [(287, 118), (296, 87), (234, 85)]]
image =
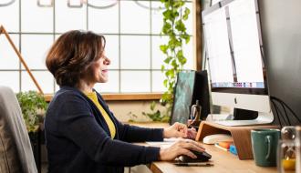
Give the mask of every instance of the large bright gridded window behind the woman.
[[(41, 1), (42, 2), (42, 1)], [(44, 2), (47, 2), (44, 0)], [(70, 1), (79, 2), (76, 0)], [(162, 15), (159, 0), (88, 0), (88, 4), (69, 7), (67, 0), (41, 7), (36, 1), (16, 0), (0, 5), (0, 25), (4, 25), (44, 93), (58, 90), (47, 71), (48, 48), (70, 29), (91, 30), (107, 39), (106, 53), (111, 60), (109, 82), (97, 84), (101, 93), (153, 93), (165, 90), (159, 46), (167, 40), (160, 36)], [(0, 2), (1, 4), (1, 2)], [(186, 3), (192, 10), (192, 2)], [(192, 15), (186, 22), (192, 36)], [(191, 39), (192, 40), (192, 39)], [(192, 41), (184, 46), (186, 69), (193, 68)], [(18, 61), (5, 36), (0, 36), (0, 81), (15, 92), (37, 90)]]

